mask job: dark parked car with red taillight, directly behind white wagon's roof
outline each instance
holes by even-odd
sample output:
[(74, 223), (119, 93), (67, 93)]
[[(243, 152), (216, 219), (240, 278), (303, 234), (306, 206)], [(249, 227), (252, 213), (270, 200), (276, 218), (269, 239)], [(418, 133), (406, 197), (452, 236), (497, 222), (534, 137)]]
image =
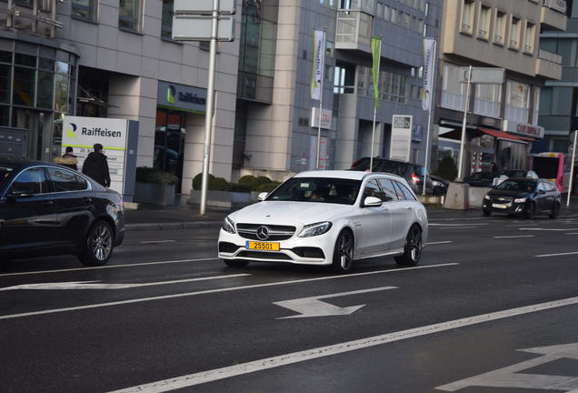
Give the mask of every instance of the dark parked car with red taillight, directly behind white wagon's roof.
[[(369, 161), (369, 157), (360, 158), (354, 162), (351, 169), (359, 171), (369, 170)], [(424, 190), (424, 166), (382, 157), (374, 157), (373, 166), (374, 172), (386, 172), (404, 177), (407, 184), (414, 190), (414, 193), (422, 195)], [(425, 194), (433, 194), (433, 184), (430, 176), (427, 177), (427, 183), (425, 184)]]

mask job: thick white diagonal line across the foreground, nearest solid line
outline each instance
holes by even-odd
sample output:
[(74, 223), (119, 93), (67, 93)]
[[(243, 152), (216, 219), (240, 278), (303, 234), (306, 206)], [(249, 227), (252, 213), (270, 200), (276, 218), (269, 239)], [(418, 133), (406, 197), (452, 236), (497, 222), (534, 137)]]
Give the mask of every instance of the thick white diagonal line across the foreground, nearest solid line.
[(212, 370), (202, 371), (199, 373), (189, 374), (181, 377), (168, 378), (132, 388), (123, 388), (109, 393), (136, 393), (136, 392), (161, 393), (178, 388), (188, 388), (219, 379), (231, 378), (239, 375), (249, 374), (255, 371), (262, 371), (264, 369), (277, 368), (307, 360), (312, 360), (315, 358), (324, 358), (327, 356), (351, 352), (356, 349), (371, 348), (395, 341), (401, 341), (408, 338), (427, 336), (434, 333), (453, 330), (455, 328), (463, 328), (507, 317), (516, 317), (524, 314), (530, 314), (557, 307), (572, 306), (575, 304), (578, 304), (578, 297), (569, 297), (562, 300), (540, 303), (526, 307), (512, 308), (509, 310), (483, 314), (475, 317), (454, 319), (452, 321), (424, 326), (421, 328), (402, 330), (394, 333), (384, 334), (381, 336), (361, 338), (354, 341), (348, 341), (341, 344), (334, 344), (327, 347), (307, 349), (304, 351), (284, 354), (274, 358), (264, 358), (247, 363), (237, 364), (234, 366), (215, 368)]

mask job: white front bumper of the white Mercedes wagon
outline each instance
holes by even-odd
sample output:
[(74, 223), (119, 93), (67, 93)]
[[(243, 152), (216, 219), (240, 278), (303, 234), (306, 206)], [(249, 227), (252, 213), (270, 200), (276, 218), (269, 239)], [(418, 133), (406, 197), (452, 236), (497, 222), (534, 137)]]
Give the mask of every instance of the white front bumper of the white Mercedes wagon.
[(299, 265), (331, 265), (334, 255), (337, 231), (331, 228), (327, 233), (315, 237), (293, 237), (274, 241), (279, 243), (279, 251), (260, 251), (247, 248), (247, 242), (254, 241), (231, 234), (224, 229), (219, 232), (218, 250), (221, 259), (244, 259), (261, 262), (288, 262)]

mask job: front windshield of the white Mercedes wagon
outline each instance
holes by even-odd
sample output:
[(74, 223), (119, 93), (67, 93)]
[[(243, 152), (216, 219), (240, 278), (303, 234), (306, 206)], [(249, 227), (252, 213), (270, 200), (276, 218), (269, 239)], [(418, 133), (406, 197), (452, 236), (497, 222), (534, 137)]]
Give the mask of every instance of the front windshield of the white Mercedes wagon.
[(360, 186), (361, 180), (292, 177), (267, 196), (267, 200), (353, 205)]

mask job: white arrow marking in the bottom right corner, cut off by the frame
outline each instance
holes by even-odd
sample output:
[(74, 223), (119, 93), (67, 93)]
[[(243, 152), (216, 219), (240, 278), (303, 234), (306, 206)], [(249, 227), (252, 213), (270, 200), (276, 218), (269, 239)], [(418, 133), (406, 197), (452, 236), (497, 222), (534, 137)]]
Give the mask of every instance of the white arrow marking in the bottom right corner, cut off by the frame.
[(561, 390), (570, 393), (578, 391), (578, 378), (576, 377), (524, 374), (520, 372), (561, 358), (578, 359), (578, 343), (518, 350), (543, 355), (543, 357), (526, 360), (522, 363), (499, 368), (472, 378), (465, 378), (436, 389), (457, 391), (463, 388), (485, 387)]

